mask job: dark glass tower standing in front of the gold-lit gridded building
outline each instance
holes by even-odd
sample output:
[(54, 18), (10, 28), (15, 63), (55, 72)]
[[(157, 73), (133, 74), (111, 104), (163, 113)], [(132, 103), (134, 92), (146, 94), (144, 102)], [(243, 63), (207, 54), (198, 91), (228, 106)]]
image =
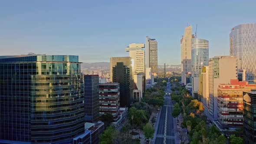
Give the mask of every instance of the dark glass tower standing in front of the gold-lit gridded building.
[(130, 68), (122, 62), (113, 67), (113, 82), (120, 84), (120, 106), (130, 108), (133, 101), (133, 80)]

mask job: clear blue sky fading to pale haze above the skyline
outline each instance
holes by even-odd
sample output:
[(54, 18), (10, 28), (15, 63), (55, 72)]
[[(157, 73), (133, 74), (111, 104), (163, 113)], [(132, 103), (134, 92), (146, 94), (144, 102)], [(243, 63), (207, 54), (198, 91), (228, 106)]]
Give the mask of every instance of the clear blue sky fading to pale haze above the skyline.
[(0, 55), (78, 55), (80, 62), (128, 56), (130, 43), (158, 41), (158, 64), (180, 64), (187, 25), (229, 55), (229, 33), (256, 23), (256, 0), (1, 0)]

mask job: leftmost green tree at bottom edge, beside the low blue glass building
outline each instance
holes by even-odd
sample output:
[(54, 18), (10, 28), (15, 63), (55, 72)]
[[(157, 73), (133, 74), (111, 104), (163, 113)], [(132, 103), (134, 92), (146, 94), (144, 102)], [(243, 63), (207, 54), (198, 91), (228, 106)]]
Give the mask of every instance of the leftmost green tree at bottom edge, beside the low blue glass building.
[(105, 131), (100, 135), (99, 143), (100, 144), (113, 144), (114, 131), (115, 131), (115, 128), (113, 126), (106, 128)]

